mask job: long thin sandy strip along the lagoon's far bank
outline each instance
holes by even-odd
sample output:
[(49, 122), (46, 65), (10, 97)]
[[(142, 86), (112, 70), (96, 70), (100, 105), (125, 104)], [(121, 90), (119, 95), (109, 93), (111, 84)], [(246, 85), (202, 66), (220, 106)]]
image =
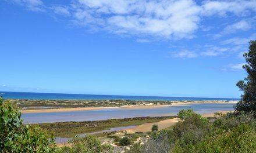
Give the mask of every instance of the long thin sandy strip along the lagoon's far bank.
[(226, 103), (226, 104), (236, 104), (238, 101), (173, 101), (171, 104), (145, 104), (145, 105), (123, 105), (118, 107), (70, 107), (70, 108), (48, 108), (48, 109), (34, 109), (34, 110), (22, 110), (23, 114), (29, 113), (44, 113), (44, 112), (73, 112), (73, 111), (93, 111), (93, 110), (104, 110), (113, 108), (123, 108), (123, 109), (149, 109), (156, 107), (169, 107), (176, 105), (188, 105), (188, 104), (206, 104), (206, 103)]

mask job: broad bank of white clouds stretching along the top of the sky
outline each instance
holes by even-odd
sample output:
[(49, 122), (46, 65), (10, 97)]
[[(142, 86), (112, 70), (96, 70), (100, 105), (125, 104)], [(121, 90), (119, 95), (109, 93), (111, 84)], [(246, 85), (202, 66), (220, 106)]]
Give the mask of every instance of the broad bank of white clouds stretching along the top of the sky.
[[(193, 0), (70, 0), (70, 5), (44, 6), (41, 0), (12, 0), (27, 9), (70, 16), (74, 24), (93, 30), (104, 30), (138, 38), (181, 39), (195, 37), (195, 31), (205, 16), (246, 16), (256, 12), (256, 1), (202, 1)], [(250, 23), (241, 20), (227, 25), (224, 31), (248, 30)], [(87, 28), (88, 29), (88, 28)], [(209, 28), (202, 28), (208, 31)], [(220, 36), (217, 36), (220, 37)], [(136, 39), (138, 39), (136, 38)]]

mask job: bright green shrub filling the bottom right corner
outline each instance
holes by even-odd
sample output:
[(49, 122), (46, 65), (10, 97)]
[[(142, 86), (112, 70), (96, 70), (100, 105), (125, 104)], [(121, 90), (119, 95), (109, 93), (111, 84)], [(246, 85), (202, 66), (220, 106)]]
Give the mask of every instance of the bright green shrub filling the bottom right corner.
[(194, 147), (194, 152), (256, 152), (256, 132), (242, 124), (229, 132), (212, 134)]

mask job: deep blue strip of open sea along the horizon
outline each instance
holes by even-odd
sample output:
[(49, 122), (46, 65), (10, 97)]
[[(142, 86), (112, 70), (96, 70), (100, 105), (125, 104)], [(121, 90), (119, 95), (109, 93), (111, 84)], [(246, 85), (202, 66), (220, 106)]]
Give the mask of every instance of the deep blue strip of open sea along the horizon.
[(31, 93), (31, 92), (1, 92), (5, 99), (45, 99), (45, 100), (166, 100), (166, 101), (199, 101), (199, 100), (227, 100), (239, 99), (203, 98), (203, 97), (157, 97), (157, 96), (116, 96), (99, 94), (66, 94), (66, 93)]

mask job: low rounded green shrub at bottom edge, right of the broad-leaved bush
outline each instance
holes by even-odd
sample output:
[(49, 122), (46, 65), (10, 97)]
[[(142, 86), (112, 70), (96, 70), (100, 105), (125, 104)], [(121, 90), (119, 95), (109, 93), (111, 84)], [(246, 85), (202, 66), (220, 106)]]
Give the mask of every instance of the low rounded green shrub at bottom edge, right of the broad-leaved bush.
[(76, 136), (69, 141), (70, 147), (65, 146), (59, 150), (59, 153), (98, 153), (111, 152), (113, 146), (109, 144), (101, 144), (101, 142), (91, 135), (84, 137)]

